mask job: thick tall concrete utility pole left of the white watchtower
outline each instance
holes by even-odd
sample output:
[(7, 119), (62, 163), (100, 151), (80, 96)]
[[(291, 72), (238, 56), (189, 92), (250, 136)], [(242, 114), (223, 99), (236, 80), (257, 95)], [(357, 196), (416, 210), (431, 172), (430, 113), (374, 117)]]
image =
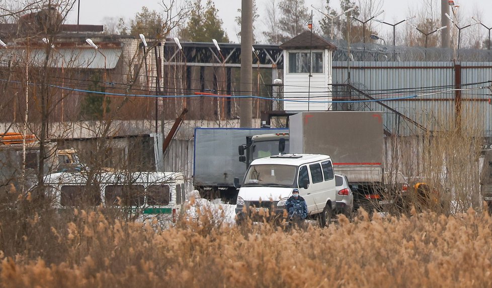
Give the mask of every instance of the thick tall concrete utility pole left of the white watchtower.
[[(241, 5), (241, 91), (251, 95), (253, 91), (253, 0), (242, 0)], [(253, 99), (239, 101), (240, 127), (253, 126)]]

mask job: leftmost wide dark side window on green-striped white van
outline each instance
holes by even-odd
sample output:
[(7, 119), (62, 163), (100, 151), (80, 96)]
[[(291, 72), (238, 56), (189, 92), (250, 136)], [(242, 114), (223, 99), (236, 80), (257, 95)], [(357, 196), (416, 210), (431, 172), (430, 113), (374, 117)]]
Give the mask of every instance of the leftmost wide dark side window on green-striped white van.
[(64, 185), (60, 190), (61, 206), (98, 206), (101, 204), (101, 195), (97, 186)]

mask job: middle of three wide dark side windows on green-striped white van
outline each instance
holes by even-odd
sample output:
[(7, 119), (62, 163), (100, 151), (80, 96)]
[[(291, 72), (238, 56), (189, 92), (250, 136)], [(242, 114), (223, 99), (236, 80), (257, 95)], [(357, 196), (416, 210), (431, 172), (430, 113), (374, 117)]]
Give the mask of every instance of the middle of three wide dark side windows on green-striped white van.
[(110, 206), (140, 206), (144, 204), (144, 190), (143, 185), (107, 185), (104, 199)]

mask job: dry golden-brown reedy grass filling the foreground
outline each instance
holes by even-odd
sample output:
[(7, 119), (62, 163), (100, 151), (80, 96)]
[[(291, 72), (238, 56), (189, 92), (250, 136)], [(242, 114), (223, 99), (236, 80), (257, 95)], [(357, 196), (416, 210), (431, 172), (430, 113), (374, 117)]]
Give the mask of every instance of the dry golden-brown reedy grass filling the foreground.
[(361, 211), (288, 232), (206, 213), (166, 230), (102, 211), (22, 213), (0, 218), (4, 287), (492, 285), (492, 220), (472, 209), (371, 219)]

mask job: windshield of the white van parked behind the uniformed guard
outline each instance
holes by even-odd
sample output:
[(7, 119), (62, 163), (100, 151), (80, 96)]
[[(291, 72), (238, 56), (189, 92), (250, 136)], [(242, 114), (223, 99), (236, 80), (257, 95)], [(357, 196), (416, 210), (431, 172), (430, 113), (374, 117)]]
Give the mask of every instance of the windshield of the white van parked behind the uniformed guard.
[(294, 187), (297, 166), (262, 164), (252, 165), (244, 178), (245, 186)]

